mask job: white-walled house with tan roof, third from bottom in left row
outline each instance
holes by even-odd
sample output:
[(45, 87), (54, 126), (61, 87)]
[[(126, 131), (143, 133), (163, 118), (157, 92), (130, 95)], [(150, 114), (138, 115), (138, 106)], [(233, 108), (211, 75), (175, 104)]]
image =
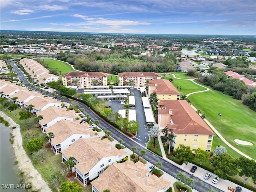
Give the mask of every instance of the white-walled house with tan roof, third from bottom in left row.
[(53, 138), (50, 139), (52, 150), (55, 154), (59, 154), (62, 150), (68, 148), (79, 138), (94, 138), (97, 131), (89, 129), (87, 122), (80, 123), (79, 121), (60, 120), (56, 124), (45, 128), (46, 135), (53, 133)]

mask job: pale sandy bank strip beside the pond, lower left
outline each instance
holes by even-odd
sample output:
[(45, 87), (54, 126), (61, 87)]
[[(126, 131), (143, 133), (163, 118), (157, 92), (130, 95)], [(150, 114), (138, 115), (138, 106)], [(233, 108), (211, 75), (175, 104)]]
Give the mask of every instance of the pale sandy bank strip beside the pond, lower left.
[(0, 111), (0, 116), (2, 116), (4, 120), (9, 122), (9, 127), (16, 127), (11, 132), (14, 136), (14, 143), (12, 144), (12, 146), (14, 148), (16, 160), (18, 161), (18, 168), (21, 172), (24, 172), (26, 182), (32, 185), (32, 190), (34, 191), (51, 192), (48, 184), (44, 181), (41, 174), (36, 170), (36, 168), (34, 168), (30, 158), (28, 157), (26, 151), (22, 146), (22, 135), (20, 133), (20, 126), (2, 111)]

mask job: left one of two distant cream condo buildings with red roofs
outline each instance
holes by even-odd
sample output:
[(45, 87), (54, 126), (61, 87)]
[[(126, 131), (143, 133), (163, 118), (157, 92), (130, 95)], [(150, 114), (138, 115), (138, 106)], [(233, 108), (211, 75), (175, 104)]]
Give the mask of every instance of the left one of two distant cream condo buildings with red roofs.
[(103, 72), (69, 72), (62, 76), (62, 84), (80, 88), (106, 86), (108, 85), (108, 74)]

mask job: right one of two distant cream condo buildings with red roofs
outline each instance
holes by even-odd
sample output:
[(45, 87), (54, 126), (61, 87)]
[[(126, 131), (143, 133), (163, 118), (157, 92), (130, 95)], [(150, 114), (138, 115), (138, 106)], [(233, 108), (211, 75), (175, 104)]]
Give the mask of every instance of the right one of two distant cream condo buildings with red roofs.
[(161, 76), (155, 72), (123, 72), (118, 73), (120, 85), (126, 85), (129, 81), (134, 81), (134, 87), (146, 86), (147, 80), (160, 79)]

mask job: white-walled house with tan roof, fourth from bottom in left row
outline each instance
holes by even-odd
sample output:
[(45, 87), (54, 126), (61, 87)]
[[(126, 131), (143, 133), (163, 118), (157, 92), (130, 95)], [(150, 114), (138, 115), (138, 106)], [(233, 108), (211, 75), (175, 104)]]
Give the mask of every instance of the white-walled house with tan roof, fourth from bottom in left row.
[(45, 133), (46, 127), (50, 127), (62, 119), (74, 121), (76, 118), (81, 118), (74, 110), (67, 111), (66, 108), (53, 106), (38, 112), (37, 116), (42, 116), (42, 119), (39, 120), (39, 124), (43, 133)]

